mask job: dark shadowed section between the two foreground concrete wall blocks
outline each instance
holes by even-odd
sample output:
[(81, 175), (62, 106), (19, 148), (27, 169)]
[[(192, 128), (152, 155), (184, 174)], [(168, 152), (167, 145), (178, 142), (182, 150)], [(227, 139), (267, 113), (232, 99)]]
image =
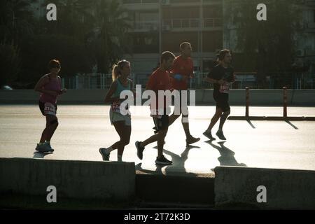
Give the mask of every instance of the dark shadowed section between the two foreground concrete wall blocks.
[(137, 174), (136, 195), (146, 202), (214, 206), (214, 178)]

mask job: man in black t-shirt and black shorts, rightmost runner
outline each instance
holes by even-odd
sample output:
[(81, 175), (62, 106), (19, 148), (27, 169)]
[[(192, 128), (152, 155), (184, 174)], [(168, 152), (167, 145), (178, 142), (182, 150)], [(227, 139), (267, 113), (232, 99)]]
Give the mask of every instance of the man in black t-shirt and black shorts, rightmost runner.
[(232, 55), (230, 50), (221, 50), (218, 55), (218, 65), (214, 67), (209, 72), (207, 81), (214, 84), (214, 100), (216, 101), (216, 113), (211, 119), (211, 123), (208, 129), (204, 132), (204, 136), (208, 137), (210, 140), (215, 140), (212, 137), (211, 130), (216, 125), (218, 119), (220, 118), (220, 125), (216, 135), (219, 139), (226, 140), (223, 134), (223, 125), (225, 120), (230, 115), (230, 105), (229, 105), (229, 90), (232, 83), (235, 82), (234, 71), (230, 66), (232, 61)]

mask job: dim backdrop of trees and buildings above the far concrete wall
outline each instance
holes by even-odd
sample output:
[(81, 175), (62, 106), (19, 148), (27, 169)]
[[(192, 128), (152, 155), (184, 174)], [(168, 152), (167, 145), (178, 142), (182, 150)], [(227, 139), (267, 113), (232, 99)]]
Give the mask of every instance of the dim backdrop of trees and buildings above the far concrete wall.
[[(57, 20), (46, 8), (57, 6)], [(315, 0), (1, 0), (0, 85), (33, 88), (50, 59), (62, 65), (69, 89), (106, 89), (111, 66), (132, 63), (134, 84), (145, 85), (165, 50), (193, 46), (190, 88), (212, 88), (204, 77), (216, 54), (232, 51), (233, 88), (315, 88)]]

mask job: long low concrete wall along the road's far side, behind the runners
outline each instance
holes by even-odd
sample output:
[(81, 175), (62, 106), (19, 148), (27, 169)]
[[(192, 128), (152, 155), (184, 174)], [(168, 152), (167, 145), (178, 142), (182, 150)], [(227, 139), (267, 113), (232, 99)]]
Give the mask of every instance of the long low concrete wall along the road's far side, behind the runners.
[[(215, 105), (213, 90), (195, 90), (197, 105)], [(59, 104), (104, 104), (107, 90), (68, 90)], [(0, 90), (0, 104), (36, 104), (34, 90)], [(250, 90), (251, 106), (282, 106), (283, 90)], [(146, 101), (146, 100), (144, 100)], [(245, 105), (245, 90), (230, 90), (231, 105)], [(288, 90), (288, 106), (315, 106), (315, 90)]]

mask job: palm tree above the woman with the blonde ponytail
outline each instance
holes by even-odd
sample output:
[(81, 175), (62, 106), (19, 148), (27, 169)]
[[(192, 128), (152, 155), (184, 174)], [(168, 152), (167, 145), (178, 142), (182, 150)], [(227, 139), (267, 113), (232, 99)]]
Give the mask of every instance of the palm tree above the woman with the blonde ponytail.
[(87, 36), (87, 45), (94, 51), (98, 72), (107, 73), (111, 64), (130, 51), (127, 13), (115, 0), (96, 0), (92, 15), (94, 27)]

